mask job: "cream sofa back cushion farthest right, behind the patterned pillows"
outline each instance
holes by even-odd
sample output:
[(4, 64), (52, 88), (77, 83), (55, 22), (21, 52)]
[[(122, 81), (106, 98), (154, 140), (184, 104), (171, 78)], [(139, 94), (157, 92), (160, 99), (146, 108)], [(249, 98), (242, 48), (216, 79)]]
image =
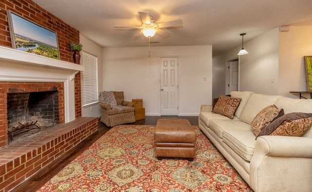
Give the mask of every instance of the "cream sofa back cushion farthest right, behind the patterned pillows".
[[(274, 104), (277, 108), (283, 108), (285, 114), (302, 112), (312, 113), (312, 99), (294, 99), (280, 96)], [(310, 128), (304, 137), (312, 137), (312, 128)]]

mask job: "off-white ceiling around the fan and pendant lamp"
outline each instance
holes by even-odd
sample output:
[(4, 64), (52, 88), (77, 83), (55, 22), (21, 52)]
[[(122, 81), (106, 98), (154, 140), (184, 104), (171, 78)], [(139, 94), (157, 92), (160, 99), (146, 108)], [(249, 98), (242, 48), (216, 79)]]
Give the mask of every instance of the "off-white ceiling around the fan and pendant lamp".
[(148, 46), (148, 38), (134, 39), (139, 30), (115, 30), (114, 25), (140, 26), (138, 11), (154, 20), (183, 20), (183, 27), (167, 29), (152, 46), (213, 45), (223, 53), (273, 28), (312, 25), (312, 0), (33, 0), (102, 47)]

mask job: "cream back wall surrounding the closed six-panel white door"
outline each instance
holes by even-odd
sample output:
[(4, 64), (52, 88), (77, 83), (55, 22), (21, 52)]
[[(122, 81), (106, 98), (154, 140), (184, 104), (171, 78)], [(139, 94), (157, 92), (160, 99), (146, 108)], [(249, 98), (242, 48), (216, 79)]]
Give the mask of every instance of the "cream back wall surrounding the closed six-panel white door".
[[(179, 58), (179, 115), (198, 115), (212, 100), (212, 46), (103, 48), (103, 90), (142, 98), (146, 115), (160, 115), (160, 59)], [(204, 80), (206, 77), (206, 81)]]

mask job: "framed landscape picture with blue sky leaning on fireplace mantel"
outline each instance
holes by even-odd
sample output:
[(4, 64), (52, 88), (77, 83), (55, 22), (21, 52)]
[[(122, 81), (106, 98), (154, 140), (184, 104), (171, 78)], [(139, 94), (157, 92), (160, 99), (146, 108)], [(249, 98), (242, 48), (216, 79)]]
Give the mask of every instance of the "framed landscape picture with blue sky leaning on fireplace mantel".
[(12, 48), (59, 59), (57, 34), (7, 10)]

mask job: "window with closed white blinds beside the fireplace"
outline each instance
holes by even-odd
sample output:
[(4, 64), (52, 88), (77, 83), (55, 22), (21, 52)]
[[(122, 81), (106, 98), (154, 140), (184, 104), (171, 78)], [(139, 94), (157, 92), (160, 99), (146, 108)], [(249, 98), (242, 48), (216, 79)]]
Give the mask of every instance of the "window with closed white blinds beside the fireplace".
[(98, 57), (82, 51), (83, 107), (98, 103)]

